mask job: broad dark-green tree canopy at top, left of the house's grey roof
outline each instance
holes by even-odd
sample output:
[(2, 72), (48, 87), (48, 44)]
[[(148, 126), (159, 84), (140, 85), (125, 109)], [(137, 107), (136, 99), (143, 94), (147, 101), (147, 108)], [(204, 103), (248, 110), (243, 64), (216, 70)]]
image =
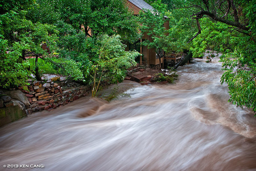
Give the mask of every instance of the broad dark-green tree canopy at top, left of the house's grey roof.
[(30, 16), (41, 23), (61, 20), (89, 37), (119, 34), (122, 40), (134, 42), (139, 36), (139, 25), (125, 3), (124, 0), (38, 0)]

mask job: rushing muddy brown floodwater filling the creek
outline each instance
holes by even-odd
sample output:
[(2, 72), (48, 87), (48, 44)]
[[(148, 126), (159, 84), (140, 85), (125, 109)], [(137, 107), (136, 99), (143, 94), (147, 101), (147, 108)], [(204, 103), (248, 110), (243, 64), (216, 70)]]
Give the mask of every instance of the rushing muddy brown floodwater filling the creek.
[(220, 66), (195, 59), (176, 84), (134, 83), (131, 97), (81, 98), (6, 125), (0, 170), (256, 170), (256, 119), (227, 102)]

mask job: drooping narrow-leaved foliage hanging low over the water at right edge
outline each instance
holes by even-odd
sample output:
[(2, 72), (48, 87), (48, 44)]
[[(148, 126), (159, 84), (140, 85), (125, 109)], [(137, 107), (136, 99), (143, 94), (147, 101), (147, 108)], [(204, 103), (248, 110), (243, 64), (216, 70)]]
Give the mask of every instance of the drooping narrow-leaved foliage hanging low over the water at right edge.
[(221, 84), (228, 83), (229, 102), (241, 108), (252, 108), (256, 112), (256, 64), (254, 61), (245, 61), (238, 49), (220, 58), (222, 70), (225, 71)]

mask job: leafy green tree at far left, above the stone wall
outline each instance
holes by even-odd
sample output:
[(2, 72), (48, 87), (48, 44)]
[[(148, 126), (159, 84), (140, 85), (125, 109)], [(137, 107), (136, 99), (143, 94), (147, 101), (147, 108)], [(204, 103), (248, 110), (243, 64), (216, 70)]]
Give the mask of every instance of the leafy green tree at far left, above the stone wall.
[[(41, 48), (42, 41), (51, 46), (54, 45), (57, 36), (53, 26), (40, 23), (33, 24), (25, 18), (26, 10), (29, 8), (27, 1), (25, 4), (19, 2), (15, 4), (11, 1), (4, 7), (5, 13), (0, 15), (2, 63), (0, 86), (8, 88), (26, 84), (25, 80), (32, 70), (29, 68), (25, 55), (33, 52), (38, 56), (38, 54), (44, 53)], [(39, 79), (37, 65), (33, 73)]]

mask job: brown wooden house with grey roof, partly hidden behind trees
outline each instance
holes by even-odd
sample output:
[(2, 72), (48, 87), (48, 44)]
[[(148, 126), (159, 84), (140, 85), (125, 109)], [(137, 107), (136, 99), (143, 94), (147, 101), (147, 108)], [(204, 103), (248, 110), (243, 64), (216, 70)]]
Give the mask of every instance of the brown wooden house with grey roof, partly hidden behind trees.
[[(139, 15), (139, 11), (140, 10), (144, 10), (144, 9), (148, 9), (148, 10), (153, 10), (153, 7), (151, 5), (149, 5), (148, 3), (146, 3), (143, 0), (126, 0), (126, 4), (128, 5), (128, 8), (131, 9), (133, 11), (133, 15), (137, 16)], [(166, 22), (164, 23), (163, 27), (166, 29), (169, 29), (169, 18), (166, 18)], [(142, 39), (138, 40), (138, 42), (142, 42), (145, 39), (150, 40), (151, 37), (148, 35), (143, 35)], [(136, 43), (138, 43), (136, 42)], [(148, 66), (155, 66), (159, 64), (159, 59), (156, 55), (156, 51), (154, 48), (150, 48), (148, 49), (147, 46), (142, 46), (140, 47), (140, 45), (136, 45), (135, 44), (128, 44), (126, 47), (126, 50), (137, 50), (138, 52), (140, 52), (141, 54), (144, 55), (144, 61), (147, 61)], [(139, 46), (139, 47), (138, 47)], [(141, 61), (140, 61), (141, 63)], [(163, 63), (163, 58), (161, 58), (161, 63)]]

